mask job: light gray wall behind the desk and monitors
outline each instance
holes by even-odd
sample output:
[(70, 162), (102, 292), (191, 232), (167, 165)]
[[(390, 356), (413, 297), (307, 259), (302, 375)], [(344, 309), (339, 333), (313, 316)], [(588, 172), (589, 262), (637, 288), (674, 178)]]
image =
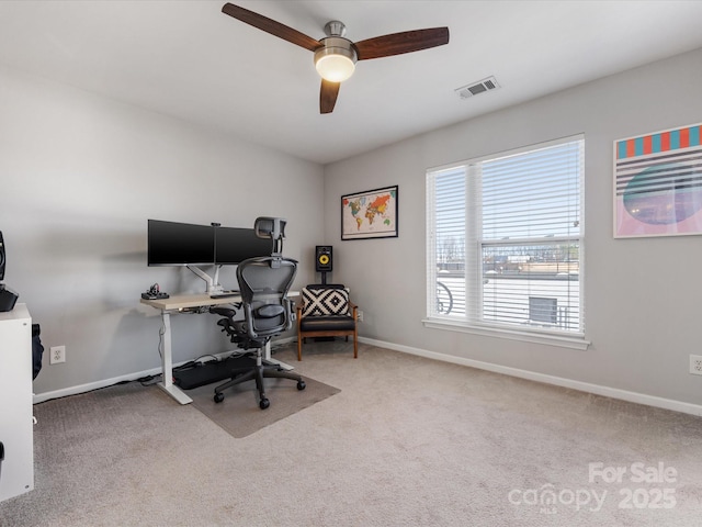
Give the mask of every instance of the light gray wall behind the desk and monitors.
[[(205, 282), (185, 268), (147, 267), (147, 218), (248, 227), (284, 216), (297, 283), (313, 280), (320, 166), (10, 69), (0, 69), (0, 115), (4, 283), (41, 324), (47, 351), (67, 349), (63, 365), (45, 356), (35, 393), (160, 365), (160, 316), (140, 293), (154, 282), (204, 292)], [(235, 285), (231, 268), (222, 282)], [(173, 317), (174, 360), (229, 349), (215, 324)]]

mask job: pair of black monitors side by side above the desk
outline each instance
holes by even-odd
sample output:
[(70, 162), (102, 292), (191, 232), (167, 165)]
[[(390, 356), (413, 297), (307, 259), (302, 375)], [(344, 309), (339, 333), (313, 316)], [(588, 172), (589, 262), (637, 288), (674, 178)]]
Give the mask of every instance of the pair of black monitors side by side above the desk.
[[(147, 264), (188, 267), (207, 283), (207, 293), (215, 294), (222, 292), (222, 266), (282, 253), (285, 223), (280, 217), (259, 217), (253, 228), (245, 228), (148, 220)], [(204, 266), (214, 266), (214, 276), (203, 271)]]

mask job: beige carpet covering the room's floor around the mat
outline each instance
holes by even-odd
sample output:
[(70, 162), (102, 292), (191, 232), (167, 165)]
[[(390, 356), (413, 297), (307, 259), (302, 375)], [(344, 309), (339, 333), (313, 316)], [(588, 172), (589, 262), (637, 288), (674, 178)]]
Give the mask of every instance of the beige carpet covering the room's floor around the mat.
[(340, 392), (242, 438), (156, 385), (35, 405), (35, 489), (0, 526), (701, 525), (700, 417), (367, 345), (275, 358)]

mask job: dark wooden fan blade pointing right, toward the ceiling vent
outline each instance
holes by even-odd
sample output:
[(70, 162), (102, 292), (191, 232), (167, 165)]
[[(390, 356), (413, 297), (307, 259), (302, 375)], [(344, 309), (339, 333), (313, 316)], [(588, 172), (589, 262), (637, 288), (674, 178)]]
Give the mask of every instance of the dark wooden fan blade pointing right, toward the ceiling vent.
[(449, 27), (405, 31), (355, 42), (359, 60), (390, 57), (449, 44)]

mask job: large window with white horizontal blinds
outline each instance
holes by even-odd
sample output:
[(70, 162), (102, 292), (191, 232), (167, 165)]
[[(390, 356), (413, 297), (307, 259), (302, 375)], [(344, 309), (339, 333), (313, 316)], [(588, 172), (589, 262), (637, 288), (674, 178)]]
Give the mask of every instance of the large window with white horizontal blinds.
[(427, 325), (587, 347), (584, 143), (427, 172)]

